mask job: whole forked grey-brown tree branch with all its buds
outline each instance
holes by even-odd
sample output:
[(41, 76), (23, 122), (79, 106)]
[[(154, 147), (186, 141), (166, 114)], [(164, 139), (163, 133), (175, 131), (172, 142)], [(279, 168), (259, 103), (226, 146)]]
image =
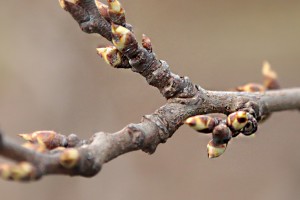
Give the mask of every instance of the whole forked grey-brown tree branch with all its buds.
[[(172, 73), (165, 61), (156, 58), (148, 37), (143, 37), (142, 46), (138, 44), (117, 0), (108, 0), (108, 6), (98, 0), (96, 4), (91, 0), (60, 0), (60, 4), (83, 31), (112, 41), (114, 46), (98, 49), (108, 64), (141, 74), (167, 102), (138, 124), (115, 133), (95, 133), (88, 140), (74, 134), (38, 131), (20, 134), (27, 141), (20, 146), (0, 134), (0, 155), (17, 162), (0, 165), (4, 179), (38, 180), (49, 174), (94, 176), (104, 163), (119, 155), (136, 150), (154, 153), (186, 119), (197, 131), (212, 132), (208, 155), (217, 157), (232, 137), (253, 134), (257, 121), (273, 112), (300, 108), (300, 88), (266, 91), (279, 88), (277, 76), (268, 66), (264, 67), (264, 86), (249, 84), (239, 87), (240, 92), (208, 91)], [(225, 115), (206, 115), (211, 113)]]

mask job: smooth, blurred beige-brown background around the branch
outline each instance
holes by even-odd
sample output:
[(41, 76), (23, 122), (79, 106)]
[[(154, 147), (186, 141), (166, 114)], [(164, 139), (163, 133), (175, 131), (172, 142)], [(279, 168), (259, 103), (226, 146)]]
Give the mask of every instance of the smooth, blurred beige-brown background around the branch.
[[(270, 61), (282, 87), (300, 86), (300, 1), (121, 1), (138, 39), (147, 34), (173, 72), (206, 89), (261, 81)], [(108, 44), (79, 29), (56, 0), (10, 0), (0, 7), (0, 127), (56, 130), (88, 138), (139, 122), (164, 104), (155, 88), (96, 55)], [(93, 178), (0, 180), (1, 199), (257, 199), (300, 197), (300, 115), (276, 113), (255, 138), (233, 140), (210, 160), (209, 137), (181, 127), (149, 156), (123, 155)], [(3, 161), (3, 160), (2, 160)]]

